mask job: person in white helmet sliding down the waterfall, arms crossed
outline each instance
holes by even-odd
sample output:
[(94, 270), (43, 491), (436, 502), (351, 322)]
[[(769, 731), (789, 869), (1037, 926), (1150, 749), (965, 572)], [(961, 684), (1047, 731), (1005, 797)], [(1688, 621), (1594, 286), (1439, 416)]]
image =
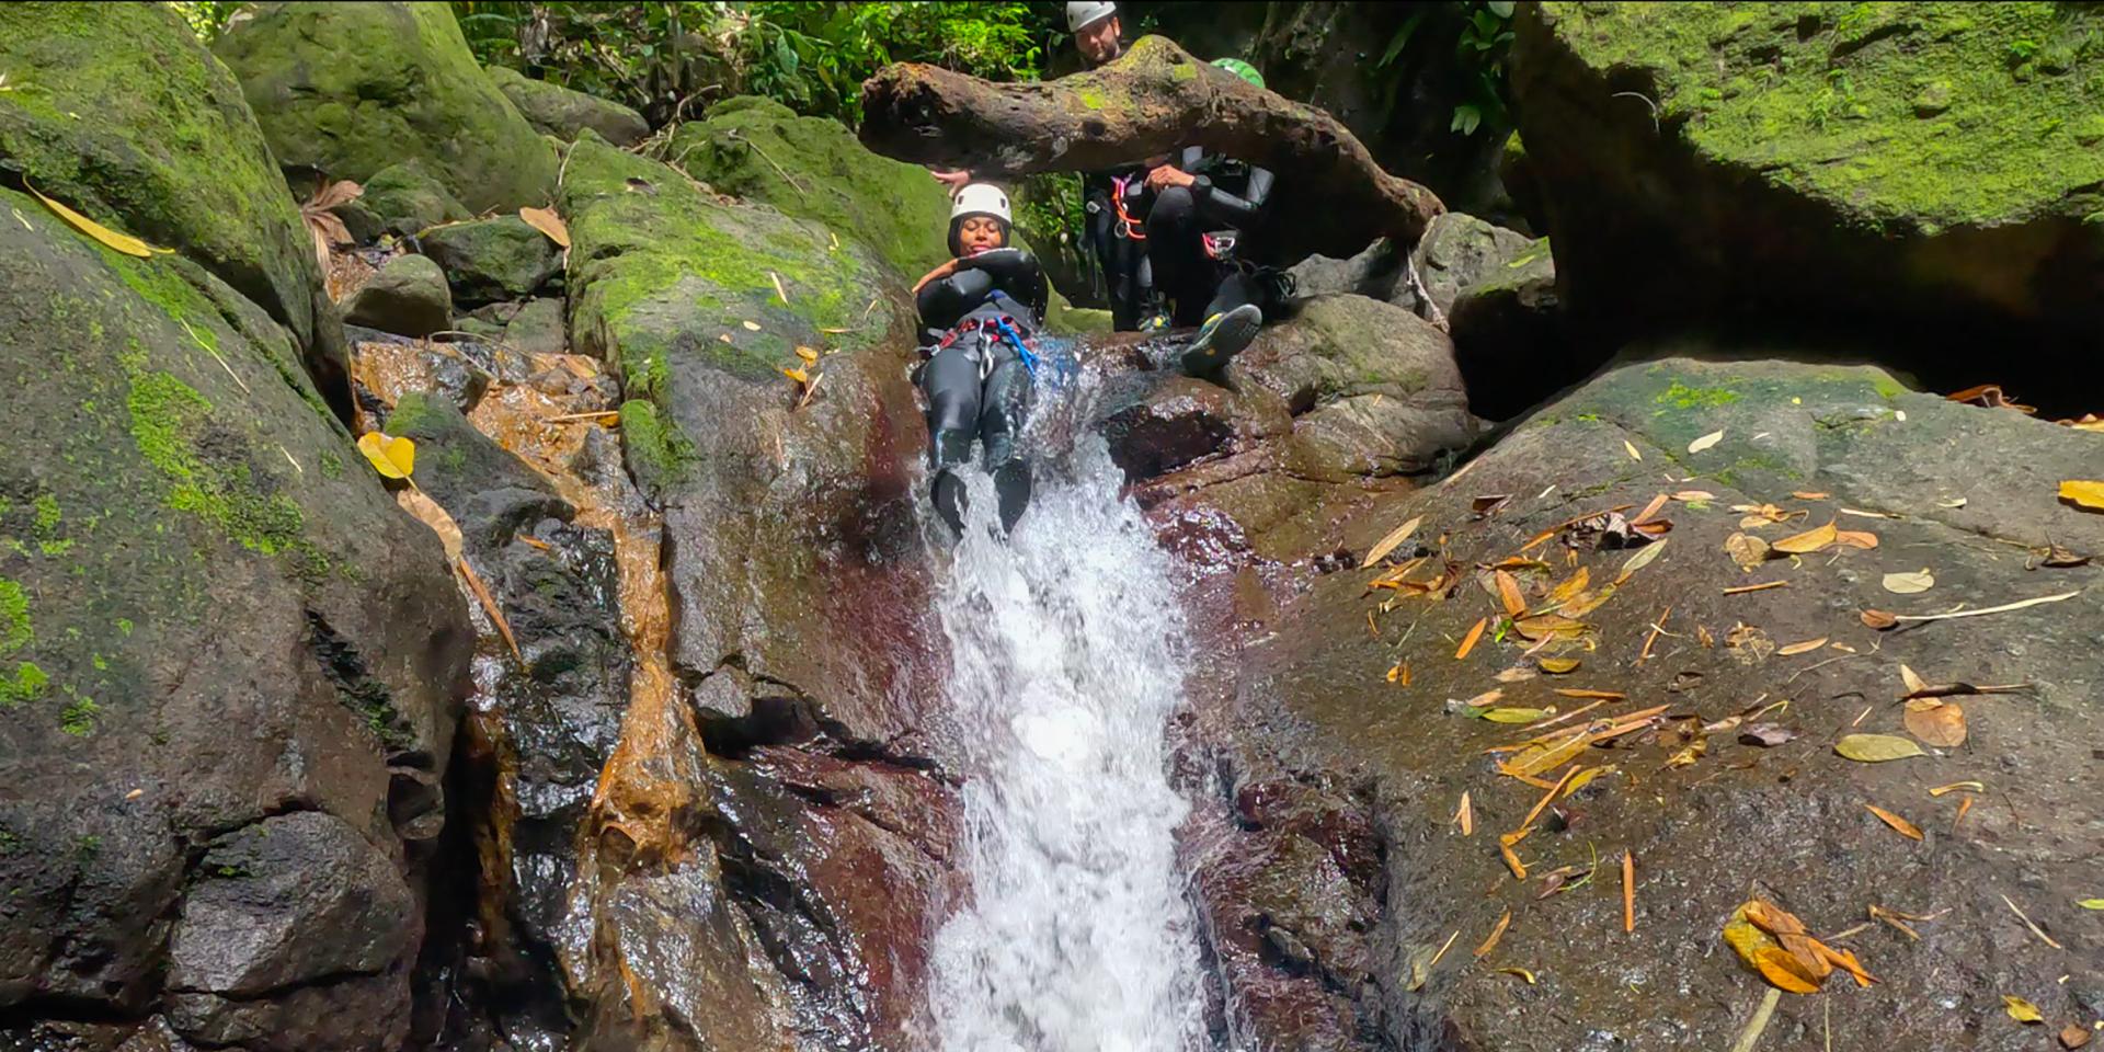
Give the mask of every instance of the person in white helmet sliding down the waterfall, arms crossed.
[(949, 210), (955, 259), (913, 284), (930, 341), (917, 383), (928, 396), (932, 499), (936, 515), (959, 534), (966, 497), (957, 469), (972, 459), (972, 440), (993, 476), (1004, 530), (1016, 528), (1031, 501), (1031, 465), (1018, 440), (1037, 370), (1031, 341), (1050, 290), (1037, 259), (1010, 248), (1010, 225), (1008, 194), (987, 183), (966, 185)]

